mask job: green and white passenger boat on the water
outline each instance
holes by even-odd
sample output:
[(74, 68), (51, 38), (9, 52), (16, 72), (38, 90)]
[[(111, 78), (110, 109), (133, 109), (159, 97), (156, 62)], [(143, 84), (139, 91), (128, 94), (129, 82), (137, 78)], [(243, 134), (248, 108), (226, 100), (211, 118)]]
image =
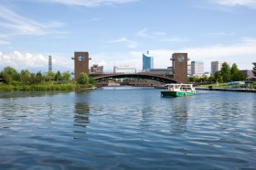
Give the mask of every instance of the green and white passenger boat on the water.
[(167, 89), (161, 91), (162, 97), (193, 96), (196, 89), (193, 84), (166, 84)]

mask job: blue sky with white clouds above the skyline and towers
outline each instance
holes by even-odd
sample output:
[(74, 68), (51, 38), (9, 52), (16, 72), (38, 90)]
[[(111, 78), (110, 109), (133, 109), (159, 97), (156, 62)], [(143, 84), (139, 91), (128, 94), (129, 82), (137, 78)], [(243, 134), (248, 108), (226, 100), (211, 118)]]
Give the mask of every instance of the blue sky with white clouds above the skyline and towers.
[(142, 69), (150, 51), (155, 68), (174, 52), (190, 61), (256, 62), (256, 0), (1, 0), (0, 70), (73, 71), (74, 51), (90, 65)]

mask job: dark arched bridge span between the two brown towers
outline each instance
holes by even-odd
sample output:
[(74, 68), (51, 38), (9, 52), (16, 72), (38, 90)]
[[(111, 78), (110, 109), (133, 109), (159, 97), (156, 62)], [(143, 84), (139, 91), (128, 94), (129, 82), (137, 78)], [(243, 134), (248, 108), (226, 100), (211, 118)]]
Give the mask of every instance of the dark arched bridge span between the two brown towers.
[(176, 83), (174, 80), (174, 75), (164, 75), (164, 74), (150, 74), (150, 73), (133, 73), (133, 74), (91, 74), (93, 80), (96, 82), (112, 79), (123, 79), (123, 78), (134, 78), (134, 79), (145, 79), (145, 80), (155, 80), (164, 83)]

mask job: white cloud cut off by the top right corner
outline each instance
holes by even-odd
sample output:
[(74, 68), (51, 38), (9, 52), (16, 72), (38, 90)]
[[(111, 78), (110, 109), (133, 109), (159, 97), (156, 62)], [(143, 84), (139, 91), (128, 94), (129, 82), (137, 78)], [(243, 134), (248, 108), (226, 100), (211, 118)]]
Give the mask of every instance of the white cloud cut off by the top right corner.
[(218, 5), (225, 5), (225, 6), (242, 5), (242, 6), (256, 9), (255, 0), (212, 0), (212, 2)]

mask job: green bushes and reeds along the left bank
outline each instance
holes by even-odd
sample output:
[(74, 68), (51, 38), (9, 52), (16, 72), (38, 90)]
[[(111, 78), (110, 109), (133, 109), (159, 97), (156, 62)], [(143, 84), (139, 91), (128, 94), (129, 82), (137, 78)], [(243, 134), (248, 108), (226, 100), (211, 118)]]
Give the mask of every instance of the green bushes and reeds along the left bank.
[(42, 74), (30, 73), (27, 69), (17, 72), (16, 69), (5, 67), (0, 72), (0, 91), (74, 91), (95, 88), (95, 82), (86, 73), (80, 73), (77, 80), (71, 80), (69, 71)]

